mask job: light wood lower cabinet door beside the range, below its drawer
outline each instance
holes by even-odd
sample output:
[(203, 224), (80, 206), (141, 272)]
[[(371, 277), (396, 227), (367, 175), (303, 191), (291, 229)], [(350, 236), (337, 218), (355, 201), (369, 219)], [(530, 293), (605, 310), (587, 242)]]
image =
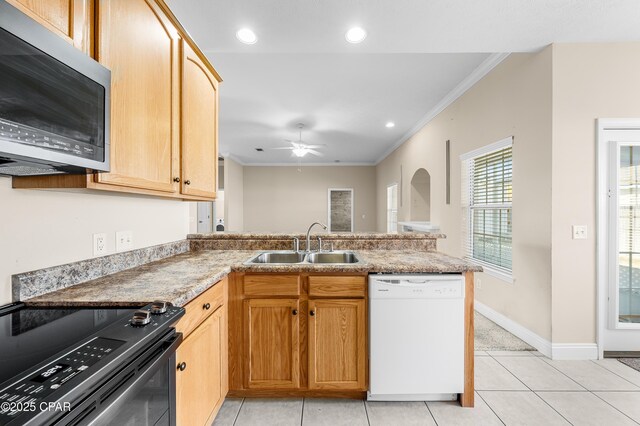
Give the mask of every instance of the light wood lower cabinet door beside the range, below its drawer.
[[(223, 341), (226, 336), (223, 307), (219, 308), (182, 342), (176, 353), (176, 406), (178, 425), (208, 424), (222, 402)], [(184, 364), (182, 364), (184, 363)], [(184, 369), (182, 368), (184, 366)]]

